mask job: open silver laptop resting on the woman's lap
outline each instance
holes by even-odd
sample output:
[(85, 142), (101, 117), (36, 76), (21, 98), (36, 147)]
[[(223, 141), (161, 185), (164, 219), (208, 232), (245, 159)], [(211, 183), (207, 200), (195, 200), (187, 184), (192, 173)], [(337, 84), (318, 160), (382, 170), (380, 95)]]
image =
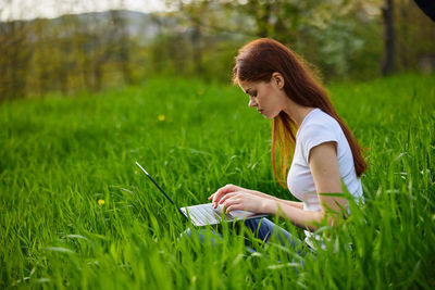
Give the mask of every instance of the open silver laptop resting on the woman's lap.
[(163, 196), (175, 205), (185, 218), (190, 219), (195, 226), (202, 227), (207, 225), (216, 225), (221, 222), (233, 222), (249, 218), (268, 216), (264, 214), (256, 214), (247, 211), (231, 211), (228, 214), (222, 213), (222, 204), (214, 209), (211, 203), (178, 207), (175, 202), (164, 192), (164, 190), (156, 182), (156, 180), (147, 173), (146, 169), (136, 161), (136, 165), (151, 179), (151, 181), (160, 189)]

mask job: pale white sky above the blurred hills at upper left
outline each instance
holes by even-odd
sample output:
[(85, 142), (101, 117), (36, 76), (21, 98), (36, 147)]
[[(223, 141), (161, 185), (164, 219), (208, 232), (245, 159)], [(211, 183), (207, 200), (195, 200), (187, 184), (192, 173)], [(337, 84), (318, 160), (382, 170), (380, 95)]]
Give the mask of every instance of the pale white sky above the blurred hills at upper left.
[(164, 0), (0, 0), (0, 21), (53, 18), (63, 14), (126, 9), (165, 10)]

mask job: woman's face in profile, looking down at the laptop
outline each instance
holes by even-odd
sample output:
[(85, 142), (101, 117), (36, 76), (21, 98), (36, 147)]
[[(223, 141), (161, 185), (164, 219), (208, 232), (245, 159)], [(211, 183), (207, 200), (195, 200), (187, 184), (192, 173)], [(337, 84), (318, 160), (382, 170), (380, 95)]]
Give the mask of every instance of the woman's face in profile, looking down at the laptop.
[(249, 96), (249, 106), (257, 106), (260, 114), (266, 118), (274, 118), (284, 110), (286, 94), (282, 87), (282, 79), (272, 76), (271, 81), (238, 81), (241, 90)]

